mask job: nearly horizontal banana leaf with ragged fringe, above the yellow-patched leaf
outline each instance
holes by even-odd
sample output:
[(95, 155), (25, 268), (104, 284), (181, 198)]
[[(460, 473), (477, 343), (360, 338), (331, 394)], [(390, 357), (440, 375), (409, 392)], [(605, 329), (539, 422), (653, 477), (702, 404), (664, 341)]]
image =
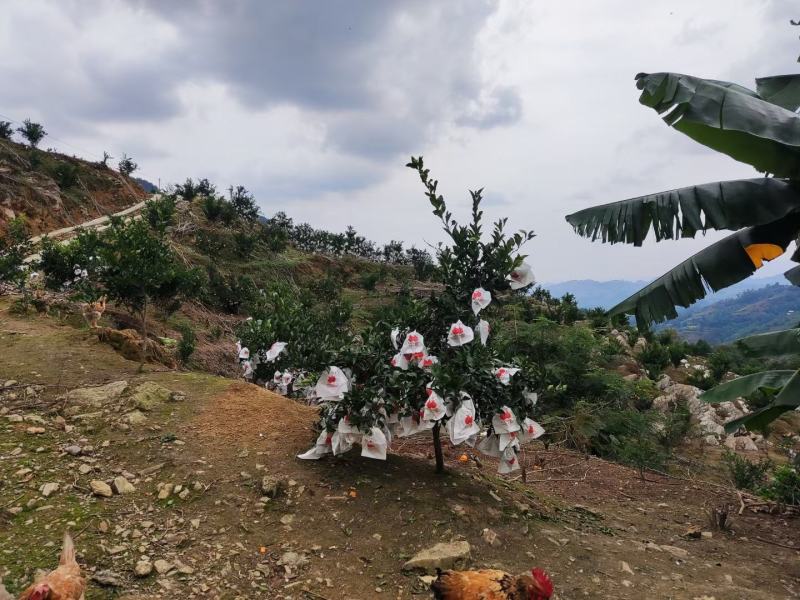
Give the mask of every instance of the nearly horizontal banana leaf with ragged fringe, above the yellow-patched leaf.
[(800, 189), (783, 179), (717, 181), (602, 204), (567, 216), (592, 241), (641, 246), (652, 225), (656, 241), (708, 229), (771, 223), (800, 208)]

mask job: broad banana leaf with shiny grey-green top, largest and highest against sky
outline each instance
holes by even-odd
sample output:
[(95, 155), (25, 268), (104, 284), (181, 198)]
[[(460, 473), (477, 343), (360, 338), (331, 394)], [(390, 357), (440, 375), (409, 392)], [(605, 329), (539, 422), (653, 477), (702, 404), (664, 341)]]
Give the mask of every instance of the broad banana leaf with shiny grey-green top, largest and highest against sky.
[(640, 73), (639, 102), (695, 141), (761, 173), (800, 174), (800, 117), (742, 86), (679, 73)]

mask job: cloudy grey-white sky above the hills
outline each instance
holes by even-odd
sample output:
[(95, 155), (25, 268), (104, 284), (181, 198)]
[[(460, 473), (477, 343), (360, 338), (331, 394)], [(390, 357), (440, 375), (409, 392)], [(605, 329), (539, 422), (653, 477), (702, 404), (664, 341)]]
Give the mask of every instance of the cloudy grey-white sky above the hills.
[(484, 187), (488, 216), (537, 232), (540, 280), (646, 279), (717, 236), (605, 246), (564, 215), (755, 173), (669, 130), (634, 75), (797, 72), (791, 4), (8, 0), (0, 115), (41, 120), (45, 146), (127, 152), (162, 184), (242, 184), (266, 215), (379, 242), (442, 239), (404, 168), (422, 154), (458, 216)]

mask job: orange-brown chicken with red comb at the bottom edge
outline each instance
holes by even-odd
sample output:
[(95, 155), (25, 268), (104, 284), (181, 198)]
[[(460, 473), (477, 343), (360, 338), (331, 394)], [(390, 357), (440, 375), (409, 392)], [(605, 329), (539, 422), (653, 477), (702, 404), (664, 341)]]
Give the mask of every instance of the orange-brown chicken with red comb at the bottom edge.
[(542, 569), (516, 577), (495, 569), (439, 571), (431, 590), (436, 600), (547, 600), (553, 582)]

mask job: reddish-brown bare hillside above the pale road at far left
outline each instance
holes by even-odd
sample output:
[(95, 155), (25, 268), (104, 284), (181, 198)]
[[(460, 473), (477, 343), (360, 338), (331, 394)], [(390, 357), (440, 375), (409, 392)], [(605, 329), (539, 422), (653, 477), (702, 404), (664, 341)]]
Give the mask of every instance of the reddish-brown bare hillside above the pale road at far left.
[(0, 232), (20, 215), (36, 235), (119, 211), (146, 197), (134, 180), (98, 163), (0, 140)]

